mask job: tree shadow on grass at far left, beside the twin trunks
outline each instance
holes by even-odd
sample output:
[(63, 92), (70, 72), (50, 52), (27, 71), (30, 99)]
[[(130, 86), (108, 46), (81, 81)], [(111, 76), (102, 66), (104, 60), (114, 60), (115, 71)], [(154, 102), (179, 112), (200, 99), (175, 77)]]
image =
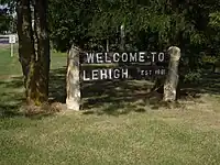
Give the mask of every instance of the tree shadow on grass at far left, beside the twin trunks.
[(0, 119), (28, 117), (31, 119), (43, 119), (54, 112), (40, 111), (28, 113), (23, 89), (22, 76), (10, 77), (0, 81)]

